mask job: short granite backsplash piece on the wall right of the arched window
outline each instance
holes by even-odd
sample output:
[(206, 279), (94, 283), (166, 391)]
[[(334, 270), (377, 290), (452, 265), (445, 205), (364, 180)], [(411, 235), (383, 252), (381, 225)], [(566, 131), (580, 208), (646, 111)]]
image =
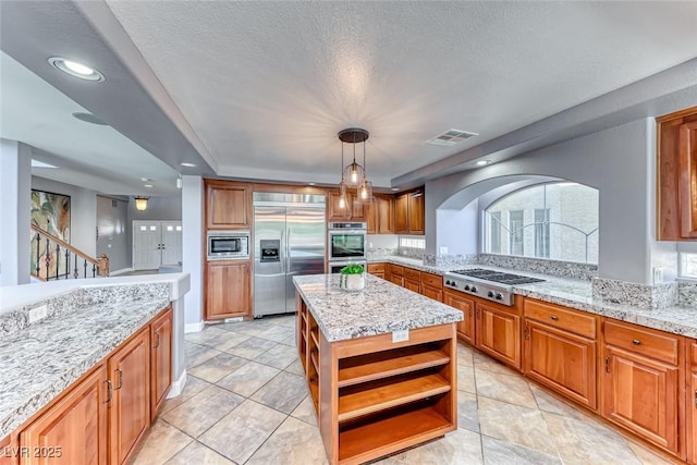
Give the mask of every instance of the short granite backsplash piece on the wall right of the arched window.
[(678, 284), (650, 285), (594, 278), (592, 297), (645, 309), (665, 308), (678, 303)]

